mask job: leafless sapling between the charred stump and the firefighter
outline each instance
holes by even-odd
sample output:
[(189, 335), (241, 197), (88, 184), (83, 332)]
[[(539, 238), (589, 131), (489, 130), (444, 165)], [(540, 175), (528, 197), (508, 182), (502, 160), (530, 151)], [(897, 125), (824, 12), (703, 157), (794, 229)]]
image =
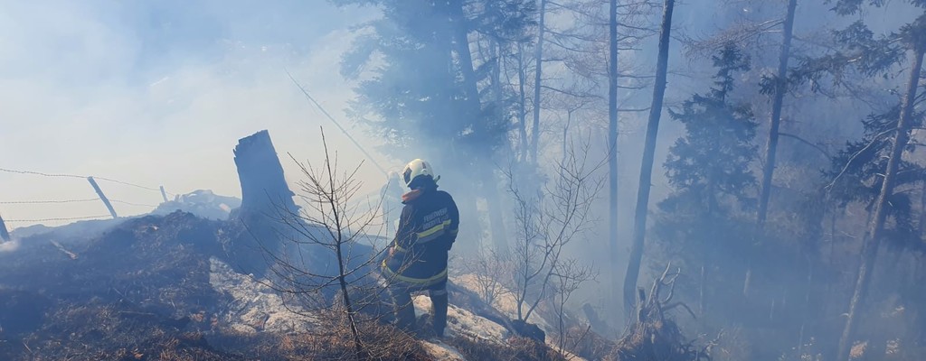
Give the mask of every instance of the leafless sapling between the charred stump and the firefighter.
[[(280, 292), (284, 306), (294, 313), (321, 325), (344, 324), (353, 339), (353, 354), (345, 356), (369, 359), (382, 350), (365, 341), (361, 331), (385, 314), (378, 309), (385, 287), (377, 269), (385, 248), (376, 247), (367, 235), (380, 226), (380, 207), (367, 211), (350, 201), (362, 186), (356, 174), (363, 162), (340, 171), (337, 153), (328, 149), (323, 130), (321, 138), (321, 164), (297, 162), (305, 179), (298, 183), (295, 197), (307, 209), (278, 209), (275, 218), (282, 224), (277, 230), (282, 247), (264, 249), (270, 277), (258, 281)], [(314, 264), (319, 259), (323, 264)], [(339, 331), (317, 327), (312, 332), (331, 335)]]

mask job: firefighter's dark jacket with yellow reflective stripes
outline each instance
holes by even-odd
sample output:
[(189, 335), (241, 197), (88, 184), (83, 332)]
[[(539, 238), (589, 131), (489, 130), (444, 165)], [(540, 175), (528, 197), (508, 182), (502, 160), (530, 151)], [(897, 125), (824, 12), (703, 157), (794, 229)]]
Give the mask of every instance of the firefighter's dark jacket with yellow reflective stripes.
[(410, 287), (442, 283), (447, 279), (447, 251), (457, 240), (457, 204), (450, 194), (436, 189), (414, 190), (403, 199), (394, 252), (382, 260), (382, 271)]

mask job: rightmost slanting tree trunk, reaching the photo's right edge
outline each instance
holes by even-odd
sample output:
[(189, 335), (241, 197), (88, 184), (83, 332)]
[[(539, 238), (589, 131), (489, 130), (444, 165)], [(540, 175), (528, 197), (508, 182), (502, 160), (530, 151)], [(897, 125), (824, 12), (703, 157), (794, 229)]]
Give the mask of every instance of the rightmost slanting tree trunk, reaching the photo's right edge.
[(868, 292), (869, 283), (871, 282), (871, 271), (873, 271), (874, 261), (878, 256), (878, 247), (881, 244), (881, 237), (884, 231), (884, 220), (887, 218), (887, 207), (890, 207), (887, 199), (894, 194), (895, 178), (897, 168), (900, 165), (901, 157), (907, 143), (910, 139), (910, 126), (912, 126), (913, 102), (917, 95), (917, 81), (920, 79), (920, 67), (923, 63), (923, 51), (926, 49), (921, 43), (914, 44), (913, 68), (910, 69), (910, 78), (907, 82), (907, 93), (904, 96), (904, 106), (900, 110), (900, 119), (897, 121), (896, 135), (891, 145), (891, 158), (887, 161), (887, 169), (884, 171), (884, 180), (881, 185), (881, 192), (874, 204), (874, 215), (871, 217), (868, 233), (865, 237), (865, 243), (862, 245), (862, 260), (858, 266), (858, 279), (856, 289), (849, 301), (849, 314), (845, 319), (845, 328), (843, 335), (839, 338), (839, 349), (837, 360), (848, 360), (849, 351), (852, 348), (852, 339), (857, 327), (857, 315), (862, 304), (862, 298)]

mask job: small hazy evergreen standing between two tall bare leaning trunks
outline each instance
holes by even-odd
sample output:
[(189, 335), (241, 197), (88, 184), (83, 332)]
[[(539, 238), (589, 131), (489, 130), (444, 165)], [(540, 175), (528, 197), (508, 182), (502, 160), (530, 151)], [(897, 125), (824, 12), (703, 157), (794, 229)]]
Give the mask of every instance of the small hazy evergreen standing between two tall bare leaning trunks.
[[(673, 192), (659, 203), (657, 239), (674, 264), (694, 273), (700, 270), (698, 287), (682, 284), (682, 292), (699, 299), (705, 312), (710, 290), (708, 274), (738, 274), (735, 271), (712, 272), (720, 268), (738, 267), (735, 259), (716, 262), (721, 251), (746, 251), (750, 221), (745, 212), (752, 208), (756, 178), (749, 166), (757, 157), (757, 123), (749, 106), (731, 101), (733, 75), (749, 68), (749, 61), (739, 49), (728, 44), (713, 56), (718, 72), (714, 87), (707, 94), (694, 94), (682, 103), (681, 111), (669, 111), (672, 119), (682, 122), (685, 135), (669, 148), (664, 163)], [(743, 217), (738, 217), (743, 216)], [(742, 259), (742, 257), (740, 258)], [(735, 284), (736, 280), (720, 282)], [(734, 289), (733, 287), (725, 287)]]

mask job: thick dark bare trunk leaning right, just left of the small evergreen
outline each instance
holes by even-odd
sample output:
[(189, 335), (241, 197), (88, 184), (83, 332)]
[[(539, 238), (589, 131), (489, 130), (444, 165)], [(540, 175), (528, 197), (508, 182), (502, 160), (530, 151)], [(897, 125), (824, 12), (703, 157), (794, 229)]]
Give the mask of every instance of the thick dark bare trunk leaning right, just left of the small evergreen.
[(637, 203), (633, 215), (631, 259), (627, 263), (627, 273), (624, 275), (624, 310), (628, 316), (632, 315), (636, 303), (636, 283), (637, 277), (640, 275), (640, 263), (643, 260), (646, 211), (649, 208), (649, 191), (653, 178), (653, 159), (656, 156), (659, 117), (662, 115), (662, 100), (666, 94), (666, 74), (669, 70), (669, 32), (672, 29), (672, 9), (674, 7), (675, 0), (666, 0), (665, 9), (662, 13), (659, 54), (656, 63), (656, 82), (653, 84), (653, 103), (649, 109), (649, 122), (646, 125), (643, 163), (640, 166), (640, 186), (637, 189)]

